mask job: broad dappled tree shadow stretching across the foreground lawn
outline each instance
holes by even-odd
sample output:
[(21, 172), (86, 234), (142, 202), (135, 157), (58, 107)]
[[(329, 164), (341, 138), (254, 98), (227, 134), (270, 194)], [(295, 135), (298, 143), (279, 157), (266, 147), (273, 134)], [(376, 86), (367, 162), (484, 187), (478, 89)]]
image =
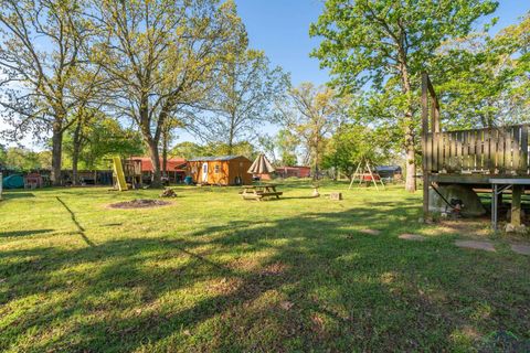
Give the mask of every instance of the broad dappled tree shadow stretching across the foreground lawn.
[[(186, 237), (2, 252), (2, 303), (64, 298), (21, 312), (0, 349), (28, 330), (38, 351), (452, 351), (499, 327), (527, 334), (528, 265), (443, 238), (398, 239), (418, 212), (367, 206)], [(80, 265), (87, 268), (67, 272)], [(46, 341), (51, 322), (76, 339)]]

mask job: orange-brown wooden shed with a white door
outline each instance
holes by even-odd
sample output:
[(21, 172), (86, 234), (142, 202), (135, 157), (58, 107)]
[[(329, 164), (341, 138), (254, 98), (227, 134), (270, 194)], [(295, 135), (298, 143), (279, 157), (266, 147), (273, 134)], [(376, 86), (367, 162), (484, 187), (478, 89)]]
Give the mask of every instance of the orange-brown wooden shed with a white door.
[(198, 184), (251, 184), (251, 165), (252, 161), (243, 156), (198, 157), (188, 160), (188, 174)]

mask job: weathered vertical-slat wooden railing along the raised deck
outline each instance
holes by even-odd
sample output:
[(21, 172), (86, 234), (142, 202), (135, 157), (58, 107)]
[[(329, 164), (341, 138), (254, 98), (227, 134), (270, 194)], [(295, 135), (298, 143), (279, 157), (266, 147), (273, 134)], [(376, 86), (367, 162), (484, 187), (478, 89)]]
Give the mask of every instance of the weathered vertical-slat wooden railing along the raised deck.
[(529, 127), (427, 132), (424, 168), (428, 172), (529, 174)]

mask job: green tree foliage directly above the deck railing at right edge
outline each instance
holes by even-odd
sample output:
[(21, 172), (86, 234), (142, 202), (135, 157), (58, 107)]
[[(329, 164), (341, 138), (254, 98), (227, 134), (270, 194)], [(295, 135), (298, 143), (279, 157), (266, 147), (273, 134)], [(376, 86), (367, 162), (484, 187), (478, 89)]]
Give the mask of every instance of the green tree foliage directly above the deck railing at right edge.
[(474, 33), (438, 50), (434, 73), (447, 129), (529, 121), (530, 17), (490, 36)]

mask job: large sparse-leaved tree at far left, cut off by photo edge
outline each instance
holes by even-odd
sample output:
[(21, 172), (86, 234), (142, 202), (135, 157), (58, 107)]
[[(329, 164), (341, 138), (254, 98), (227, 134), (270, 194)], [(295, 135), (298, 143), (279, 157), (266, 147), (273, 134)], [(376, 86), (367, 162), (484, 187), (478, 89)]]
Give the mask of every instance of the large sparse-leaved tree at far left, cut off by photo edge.
[(82, 0), (0, 1), (0, 105), (19, 139), (52, 132), (52, 182), (60, 184), (63, 132), (73, 122), (77, 85), (93, 34)]

